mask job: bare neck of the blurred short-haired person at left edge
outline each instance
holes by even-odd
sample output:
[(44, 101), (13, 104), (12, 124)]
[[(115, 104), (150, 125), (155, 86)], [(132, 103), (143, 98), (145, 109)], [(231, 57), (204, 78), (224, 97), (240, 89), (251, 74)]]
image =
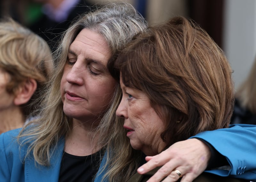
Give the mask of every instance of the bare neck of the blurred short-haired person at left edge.
[(0, 118), (0, 134), (9, 130), (21, 128), (25, 123), (25, 116), (18, 106), (0, 110)]

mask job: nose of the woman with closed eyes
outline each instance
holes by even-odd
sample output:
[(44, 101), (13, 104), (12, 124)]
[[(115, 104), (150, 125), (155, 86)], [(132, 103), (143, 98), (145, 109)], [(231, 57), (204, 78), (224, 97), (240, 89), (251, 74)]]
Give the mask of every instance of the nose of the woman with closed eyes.
[(83, 85), (83, 76), (84, 71), (82, 65), (79, 64), (79, 61), (68, 70), (68, 74), (66, 76), (67, 82), (70, 84)]

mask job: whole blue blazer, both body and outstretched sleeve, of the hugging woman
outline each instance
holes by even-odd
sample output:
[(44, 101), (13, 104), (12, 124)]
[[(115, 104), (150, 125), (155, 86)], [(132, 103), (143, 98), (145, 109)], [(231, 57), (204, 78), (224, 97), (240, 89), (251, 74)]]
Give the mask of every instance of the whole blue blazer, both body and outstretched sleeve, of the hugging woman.
[[(50, 167), (35, 166), (33, 157), (27, 157), (24, 161), (28, 146), (19, 148), (16, 140), (19, 132), (20, 129), (16, 129), (0, 135), (0, 181), (58, 181), (65, 140), (61, 139), (56, 145)], [(207, 172), (220, 176), (230, 175), (236, 178), (256, 180), (256, 125), (231, 125), (230, 129), (202, 132), (195, 137), (212, 144), (220, 154), (226, 156), (231, 166), (229, 171), (210, 170)], [(104, 161), (103, 158), (101, 166)], [(95, 181), (100, 180), (101, 177), (102, 174), (98, 175)]]

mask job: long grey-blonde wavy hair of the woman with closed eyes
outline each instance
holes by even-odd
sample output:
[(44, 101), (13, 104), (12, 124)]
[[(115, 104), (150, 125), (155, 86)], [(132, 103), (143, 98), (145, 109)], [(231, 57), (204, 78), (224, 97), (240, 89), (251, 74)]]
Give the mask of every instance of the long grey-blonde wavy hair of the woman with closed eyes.
[[(63, 112), (60, 96), (60, 80), (67, 61), (68, 49), (77, 34), (88, 28), (101, 34), (108, 43), (112, 55), (132, 39), (132, 36), (147, 27), (145, 19), (127, 3), (112, 2), (101, 5), (97, 10), (81, 15), (63, 34), (55, 52), (56, 69), (45, 91), (38, 110), (40, 117), (26, 125), (18, 136), (21, 145), (28, 144), (27, 155), (32, 154), (35, 162), (49, 166), (52, 150), (61, 139), (70, 134), (72, 118)], [(112, 59), (112, 58), (111, 58)], [(116, 87), (116, 93), (119, 93)], [(113, 95), (115, 98), (116, 94)], [(111, 104), (111, 103), (110, 103)], [(112, 107), (106, 111), (101, 123), (118, 119)], [(104, 131), (107, 133), (108, 131)], [(109, 133), (108, 133), (109, 134)], [(86, 136), (84, 136), (86, 137)], [(100, 144), (101, 145), (101, 144)], [(100, 146), (101, 147), (101, 146)]]

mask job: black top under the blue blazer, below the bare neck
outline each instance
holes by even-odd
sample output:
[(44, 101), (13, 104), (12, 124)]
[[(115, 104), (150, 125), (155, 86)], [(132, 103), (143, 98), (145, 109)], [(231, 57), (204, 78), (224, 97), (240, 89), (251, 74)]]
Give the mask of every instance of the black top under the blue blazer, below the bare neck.
[(61, 160), (59, 182), (93, 181), (99, 166), (100, 151), (88, 156), (76, 156), (64, 152)]

